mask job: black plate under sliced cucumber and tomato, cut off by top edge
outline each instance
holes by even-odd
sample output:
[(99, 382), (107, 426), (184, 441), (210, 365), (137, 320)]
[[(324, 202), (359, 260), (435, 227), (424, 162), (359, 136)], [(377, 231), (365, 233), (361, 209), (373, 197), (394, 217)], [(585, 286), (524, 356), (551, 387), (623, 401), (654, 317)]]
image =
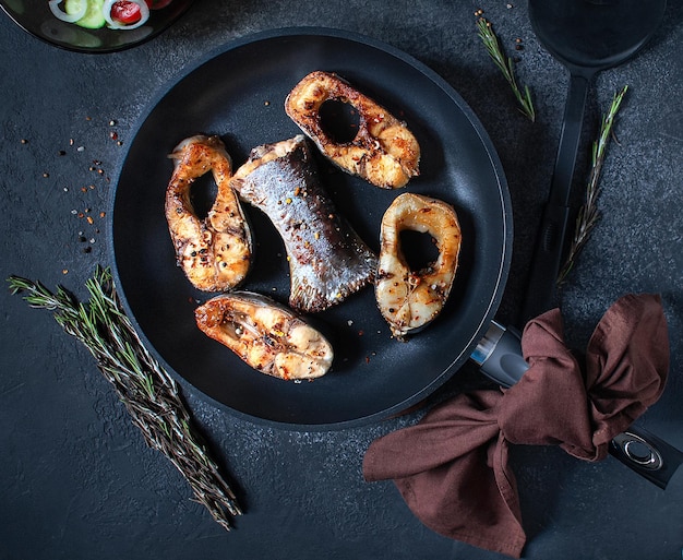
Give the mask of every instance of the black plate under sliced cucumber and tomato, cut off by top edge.
[(125, 31), (86, 29), (64, 23), (52, 14), (47, 0), (0, 0), (0, 7), (24, 31), (51, 45), (77, 52), (113, 52), (158, 35), (180, 17), (192, 1), (173, 0), (166, 8), (152, 10), (144, 25)]

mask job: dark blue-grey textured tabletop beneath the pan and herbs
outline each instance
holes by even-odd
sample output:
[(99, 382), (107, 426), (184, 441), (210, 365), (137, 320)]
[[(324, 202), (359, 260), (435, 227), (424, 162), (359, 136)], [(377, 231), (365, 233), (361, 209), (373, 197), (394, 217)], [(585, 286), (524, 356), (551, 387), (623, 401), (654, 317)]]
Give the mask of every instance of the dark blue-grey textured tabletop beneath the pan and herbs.
[[(50, 287), (61, 283), (82, 295), (95, 264), (107, 264), (107, 216), (100, 212), (124, 153), (110, 132), (130, 141), (148, 100), (183, 67), (221, 44), (274, 27), (323, 25), (360, 32), (415, 56), (450, 82), (483, 122), (514, 207), (515, 254), (498, 315), (508, 320), (524, 296), (567, 84), (564, 70), (537, 44), (524, 2), (513, 3), (398, 1), (390, 9), (357, 0), (334, 7), (305, 0), (204, 0), (153, 41), (113, 55), (50, 47), (0, 14), (2, 277), (19, 274)], [(519, 76), (535, 93), (535, 124), (516, 112), (477, 38), (472, 13), (478, 8), (520, 59)], [(517, 37), (524, 45), (518, 52)], [(679, 2), (670, 2), (663, 26), (636, 59), (598, 78), (589, 96), (586, 140), (624, 84), (631, 91), (616, 127), (619, 144), (610, 146), (603, 170), (602, 219), (565, 287), (562, 307), (568, 336), (580, 347), (622, 294), (662, 295), (671, 376), (640, 424), (683, 449)], [(578, 192), (587, 153), (584, 142)], [(93, 225), (79, 217), (86, 210)], [(421, 526), (392, 484), (363, 482), (361, 461), (369, 443), (416, 421), (420, 412), (352, 430), (293, 432), (237, 419), (188, 389), (192, 412), (248, 512), (226, 534), (190, 500), (172, 466), (145, 448), (87, 352), (49, 313), (28, 309), (7, 290), (0, 297), (3, 560), (498, 558)], [(477, 383), (465, 369), (436, 398)], [(529, 535), (525, 557), (681, 557), (683, 474), (662, 491), (612, 458), (585, 464), (552, 448), (514, 451)]]

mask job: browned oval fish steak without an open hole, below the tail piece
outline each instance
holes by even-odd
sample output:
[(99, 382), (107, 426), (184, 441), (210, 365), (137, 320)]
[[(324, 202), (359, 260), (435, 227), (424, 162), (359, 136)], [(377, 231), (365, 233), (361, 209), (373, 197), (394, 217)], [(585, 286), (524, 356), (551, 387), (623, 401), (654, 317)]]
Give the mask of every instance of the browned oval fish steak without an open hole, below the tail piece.
[(252, 368), (285, 380), (312, 380), (332, 366), (329, 342), (277, 301), (252, 291), (209, 299), (194, 311), (207, 336), (230, 348)]

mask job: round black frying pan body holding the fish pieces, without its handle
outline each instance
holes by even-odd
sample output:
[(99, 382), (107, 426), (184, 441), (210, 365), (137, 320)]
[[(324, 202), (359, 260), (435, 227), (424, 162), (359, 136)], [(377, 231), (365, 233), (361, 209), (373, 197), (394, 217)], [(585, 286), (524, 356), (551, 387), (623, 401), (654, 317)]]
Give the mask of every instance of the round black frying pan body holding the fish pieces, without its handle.
[[(205, 337), (193, 311), (206, 294), (176, 266), (164, 216), (166, 157), (185, 136), (217, 133), (236, 166), (249, 151), (299, 133), (283, 104), (312, 70), (337, 72), (404, 118), (421, 148), (421, 175), (407, 190), (453, 204), (463, 228), (460, 269), (442, 315), (408, 343), (390, 336), (369, 287), (315, 317), (335, 346), (333, 369), (313, 382), (259, 373)], [(382, 215), (402, 191), (386, 191), (321, 158), (329, 195), (379, 249)], [(287, 301), (283, 243), (247, 207), (256, 262), (245, 289)], [(110, 216), (113, 262), (127, 310), (172, 371), (232, 412), (301, 429), (339, 428), (399, 413), (455, 373), (496, 310), (512, 248), (512, 212), (490, 139), (457, 93), (411, 57), (367, 37), (316, 28), (248, 37), (211, 56), (153, 104), (120, 170)]]

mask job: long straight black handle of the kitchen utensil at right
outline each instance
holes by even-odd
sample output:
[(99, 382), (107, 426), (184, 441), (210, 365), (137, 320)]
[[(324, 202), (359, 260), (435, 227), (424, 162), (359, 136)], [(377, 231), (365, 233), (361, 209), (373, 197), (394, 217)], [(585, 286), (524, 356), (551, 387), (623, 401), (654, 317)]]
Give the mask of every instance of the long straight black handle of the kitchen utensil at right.
[(564, 120), (558, 158), (548, 202), (543, 212), (529, 272), (526, 300), (518, 324), (526, 324), (554, 306), (555, 283), (563, 255), (564, 238), (570, 217), (570, 192), (582, 135), (586, 97), (590, 76), (572, 73), (564, 107)]

